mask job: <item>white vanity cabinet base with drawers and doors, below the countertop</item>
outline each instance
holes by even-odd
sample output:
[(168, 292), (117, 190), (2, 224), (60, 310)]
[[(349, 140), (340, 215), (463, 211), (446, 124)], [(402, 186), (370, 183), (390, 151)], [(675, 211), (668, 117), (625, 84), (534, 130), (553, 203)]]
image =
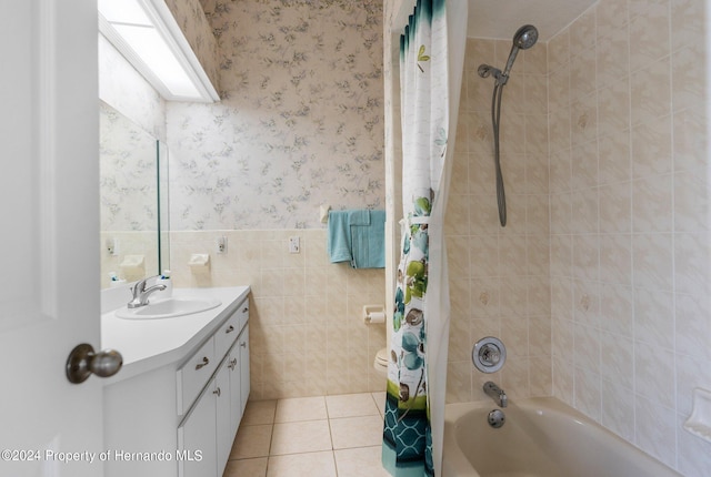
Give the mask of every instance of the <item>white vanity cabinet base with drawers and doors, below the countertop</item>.
[(107, 384), (107, 477), (222, 476), (250, 386), (249, 288), (238, 291), (182, 357), (158, 355)]

